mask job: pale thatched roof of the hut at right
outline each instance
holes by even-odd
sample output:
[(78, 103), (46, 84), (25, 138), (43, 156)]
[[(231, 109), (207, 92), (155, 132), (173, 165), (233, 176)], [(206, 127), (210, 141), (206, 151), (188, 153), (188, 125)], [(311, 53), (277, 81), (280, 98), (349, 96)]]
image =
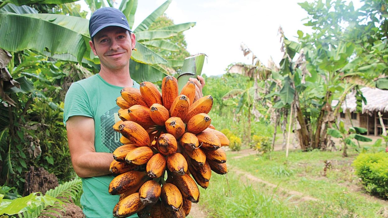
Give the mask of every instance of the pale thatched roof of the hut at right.
[[(367, 104), (362, 103), (362, 113), (371, 114), (372, 112), (380, 111), (381, 113), (388, 112), (388, 90), (378, 88), (364, 87), (360, 89), (364, 95)], [(342, 110), (356, 111), (355, 92), (346, 95), (346, 100), (342, 103)]]

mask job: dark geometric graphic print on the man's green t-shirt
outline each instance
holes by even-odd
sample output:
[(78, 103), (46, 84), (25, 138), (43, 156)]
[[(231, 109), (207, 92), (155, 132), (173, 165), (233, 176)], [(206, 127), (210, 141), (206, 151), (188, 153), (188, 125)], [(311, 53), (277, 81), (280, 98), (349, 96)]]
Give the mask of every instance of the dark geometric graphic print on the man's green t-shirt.
[(120, 143), (121, 134), (113, 130), (113, 125), (120, 120), (117, 115), (117, 111), (120, 109), (119, 106), (113, 107), (109, 111), (102, 114), (100, 117), (100, 130), (102, 144), (113, 152), (117, 147), (122, 145)]

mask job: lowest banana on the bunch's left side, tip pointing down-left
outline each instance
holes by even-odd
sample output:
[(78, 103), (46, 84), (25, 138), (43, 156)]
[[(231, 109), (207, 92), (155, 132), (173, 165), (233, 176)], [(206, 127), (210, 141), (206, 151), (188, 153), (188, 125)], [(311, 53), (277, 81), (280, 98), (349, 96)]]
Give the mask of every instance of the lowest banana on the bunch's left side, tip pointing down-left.
[(133, 193), (119, 202), (116, 217), (131, 216), (142, 210), (144, 207), (145, 205), (140, 202), (139, 193)]

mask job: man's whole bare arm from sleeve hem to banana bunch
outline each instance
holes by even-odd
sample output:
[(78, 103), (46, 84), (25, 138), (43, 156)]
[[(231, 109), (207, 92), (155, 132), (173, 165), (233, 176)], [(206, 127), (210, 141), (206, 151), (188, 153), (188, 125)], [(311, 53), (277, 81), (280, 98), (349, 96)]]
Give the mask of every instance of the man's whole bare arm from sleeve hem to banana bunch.
[(74, 171), (81, 178), (109, 174), (113, 161), (110, 153), (95, 152), (94, 120), (85, 116), (71, 116), (66, 121), (69, 150)]

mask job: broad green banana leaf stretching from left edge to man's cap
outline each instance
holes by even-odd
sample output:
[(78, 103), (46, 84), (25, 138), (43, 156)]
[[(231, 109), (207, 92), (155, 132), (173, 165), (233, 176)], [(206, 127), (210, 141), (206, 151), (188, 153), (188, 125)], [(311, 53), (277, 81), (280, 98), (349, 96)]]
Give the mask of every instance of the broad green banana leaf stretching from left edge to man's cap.
[[(31, 15), (31, 14), (29, 14)], [(26, 15), (0, 12), (0, 48), (52, 54), (72, 54), (81, 62), (87, 46), (83, 36), (53, 22)]]

